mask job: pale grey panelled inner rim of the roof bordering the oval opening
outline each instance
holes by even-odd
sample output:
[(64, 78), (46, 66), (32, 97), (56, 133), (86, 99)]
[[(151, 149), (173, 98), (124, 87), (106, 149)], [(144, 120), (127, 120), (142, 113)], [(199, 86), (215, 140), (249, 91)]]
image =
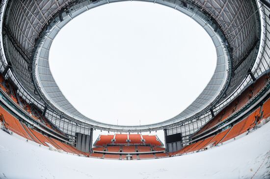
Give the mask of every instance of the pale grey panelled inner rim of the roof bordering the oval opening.
[[(123, 0), (113, 0), (113, 2), (116, 1), (123, 1)], [(143, 0), (149, 2), (149, 0)], [(152, 0), (151, 0), (152, 1)], [(111, 2), (111, 1), (110, 1)], [(50, 30), (46, 31), (46, 35), (43, 36), (43, 38), (40, 39), (40, 43), (38, 45), (38, 48), (34, 55), (34, 61), (33, 61), (33, 79), (36, 82), (35, 85), (37, 87), (37, 90), (45, 99), (45, 101), (48, 103), (50, 107), (53, 109), (56, 108), (56, 110), (63, 115), (68, 115), (69, 117), (72, 117), (76, 120), (79, 120), (81, 122), (85, 122), (89, 125), (92, 125), (93, 127), (97, 126), (99, 128), (104, 128), (105, 130), (149, 130), (161, 126), (168, 126), (175, 124), (177, 122), (180, 122), (184, 119), (187, 119), (191, 117), (192, 115), (201, 112), (205, 109), (206, 106), (210, 106), (213, 101), (215, 101), (220, 94), (225, 89), (228, 79), (230, 78), (230, 56), (228, 53), (228, 46), (226, 46), (227, 41), (224, 38), (224, 35), (221, 33), (220, 30), (218, 30), (217, 25), (214, 22), (211, 22), (210, 19), (207, 19), (204, 14), (201, 12), (198, 13), (196, 9), (193, 9), (195, 12), (191, 11), (189, 8), (185, 6), (181, 6), (181, 4), (173, 4), (162, 0), (153, 0), (152, 2), (160, 3), (162, 5), (166, 5), (168, 7), (175, 8), (176, 10), (188, 15), (190, 18), (192, 18), (194, 21), (198, 22), (210, 35), (212, 38), (212, 41), (216, 47), (216, 53), (217, 53), (217, 65), (215, 73), (213, 74), (212, 79), (210, 80), (208, 86), (203, 90), (203, 92), (200, 94), (200, 96), (196, 100), (203, 100), (204, 105), (198, 106), (198, 103), (194, 105), (196, 100), (183, 112), (178, 114), (177, 116), (159, 122), (155, 124), (150, 125), (142, 125), (142, 126), (117, 126), (117, 125), (111, 125), (111, 124), (105, 124), (101, 123), (92, 119), (87, 118), (86, 116), (82, 115), (80, 112), (78, 112), (64, 97), (62, 92), (57, 87), (54, 78), (52, 76), (52, 73), (49, 68), (49, 50), (50, 46), (53, 42), (54, 37), (57, 35), (59, 30), (67, 24), (69, 21), (71, 21), (76, 16), (80, 15), (81, 13), (102, 5), (108, 3), (107, 0), (102, 0), (96, 3), (92, 3), (90, 5), (85, 5), (83, 7), (79, 7), (78, 9), (73, 9), (72, 12), (69, 14), (66, 14), (65, 17), (62, 17), (62, 19), (55, 22)], [(183, 5), (183, 4), (182, 4)], [(204, 16), (204, 17), (203, 17)], [(204, 19), (206, 18), (206, 19)], [(213, 27), (215, 26), (215, 27)], [(220, 70), (222, 69), (222, 70)], [(219, 75), (217, 75), (217, 73)], [(220, 75), (222, 73), (222, 75)], [(222, 76), (222, 77), (220, 77)], [(209, 89), (209, 86), (212, 85), (215, 80), (215, 84), (218, 81), (218, 88), (216, 90)], [(54, 97), (57, 96), (57, 98), (61, 99), (61, 102), (55, 101)]]

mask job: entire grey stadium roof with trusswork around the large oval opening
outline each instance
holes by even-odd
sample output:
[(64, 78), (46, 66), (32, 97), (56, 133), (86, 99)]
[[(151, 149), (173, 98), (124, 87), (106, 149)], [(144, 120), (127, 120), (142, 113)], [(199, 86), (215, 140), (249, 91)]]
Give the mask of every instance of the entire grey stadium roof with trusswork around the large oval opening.
[[(253, 67), (260, 45), (261, 22), (256, 0), (144, 0), (179, 10), (198, 22), (216, 46), (216, 71), (205, 90), (172, 119), (144, 126), (116, 126), (91, 120), (78, 112), (61, 93), (49, 69), (49, 49), (66, 23), (81, 13), (121, 0), (3, 0), (1, 3), (1, 62), (12, 68), (22, 88), (43, 108), (62, 117), (104, 129), (165, 128), (211, 109), (230, 95)], [(4, 7), (4, 8), (3, 8)], [(7, 65), (8, 64), (8, 65)]]

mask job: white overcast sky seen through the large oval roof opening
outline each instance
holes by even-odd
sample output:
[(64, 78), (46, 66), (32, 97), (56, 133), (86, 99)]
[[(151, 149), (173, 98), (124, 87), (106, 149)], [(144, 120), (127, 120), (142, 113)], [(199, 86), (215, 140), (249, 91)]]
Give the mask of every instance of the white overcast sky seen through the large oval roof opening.
[(214, 74), (206, 31), (160, 4), (126, 1), (69, 22), (50, 50), (60, 90), (87, 117), (118, 125), (160, 122), (182, 112)]

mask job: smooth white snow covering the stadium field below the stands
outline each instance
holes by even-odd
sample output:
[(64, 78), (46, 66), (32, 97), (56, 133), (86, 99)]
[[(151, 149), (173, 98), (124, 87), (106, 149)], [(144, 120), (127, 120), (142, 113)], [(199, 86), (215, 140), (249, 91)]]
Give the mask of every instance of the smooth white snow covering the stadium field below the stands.
[(269, 179), (270, 122), (194, 154), (148, 160), (79, 157), (0, 131), (0, 179)]

